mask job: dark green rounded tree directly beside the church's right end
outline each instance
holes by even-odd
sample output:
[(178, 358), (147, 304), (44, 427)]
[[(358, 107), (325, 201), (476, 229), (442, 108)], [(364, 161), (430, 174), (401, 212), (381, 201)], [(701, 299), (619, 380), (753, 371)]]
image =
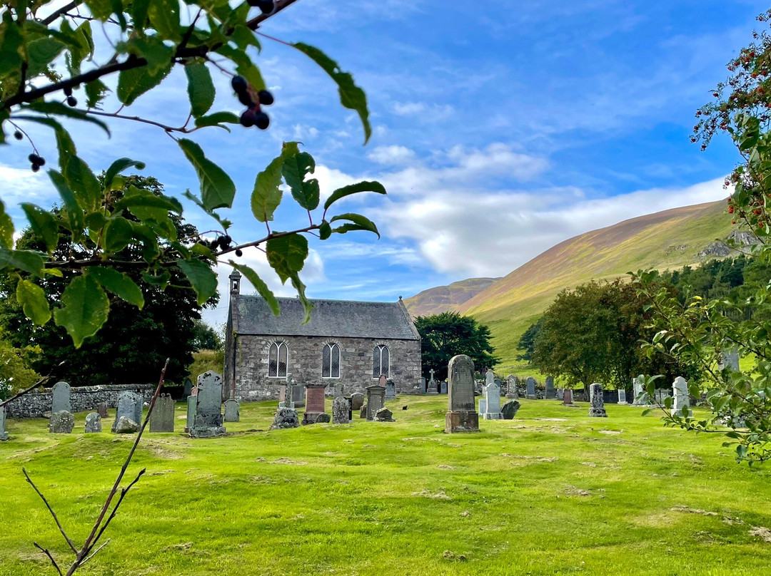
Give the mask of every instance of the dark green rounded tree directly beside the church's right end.
[(423, 371), (434, 370), (435, 377), (447, 377), (447, 363), (457, 354), (466, 354), (476, 370), (491, 368), (498, 363), (490, 343), (490, 329), (470, 316), (443, 312), (433, 316), (418, 316), (415, 327), (422, 339)]

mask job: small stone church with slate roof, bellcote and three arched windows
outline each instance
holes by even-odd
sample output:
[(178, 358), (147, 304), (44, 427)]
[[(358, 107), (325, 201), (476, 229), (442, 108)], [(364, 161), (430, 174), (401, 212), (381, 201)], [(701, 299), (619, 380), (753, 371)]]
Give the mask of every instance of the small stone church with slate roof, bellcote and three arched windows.
[(398, 302), (311, 300), (311, 320), (297, 298), (278, 298), (274, 316), (261, 296), (241, 294), (241, 274), (230, 276), (223, 395), (271, 400), (286, 382), (342, 383), (350, 394), (381, 374), (399, 393), (419, 387), (420, 335), (401, 297)]

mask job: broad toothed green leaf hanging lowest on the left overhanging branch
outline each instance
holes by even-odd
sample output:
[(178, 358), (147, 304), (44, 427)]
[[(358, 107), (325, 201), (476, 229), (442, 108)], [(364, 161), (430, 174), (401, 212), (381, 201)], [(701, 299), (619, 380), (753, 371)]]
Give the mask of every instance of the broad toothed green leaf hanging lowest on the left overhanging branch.
[(54, 310), (57, 326), (64, 327), (76, 348), (107, 321), (109, 299), (102, 286), (88, 275), (76, 276), (62, 293), (63, 306)]

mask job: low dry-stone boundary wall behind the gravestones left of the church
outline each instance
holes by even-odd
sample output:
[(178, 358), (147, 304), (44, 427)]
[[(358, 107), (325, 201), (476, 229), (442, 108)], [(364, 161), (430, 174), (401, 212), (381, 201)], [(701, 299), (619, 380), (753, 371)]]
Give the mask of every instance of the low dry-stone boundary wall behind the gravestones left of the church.
[[(155, 392), (154, 384), (116, 384), (113, 386), (86, 386), (72, 388), (70, 403), (75, 412), (96, 410), (96, 404), (106, 402), (107, 407), (118, 404), (118, 394), (129, 390), (139, 393), (145, 402), (150, 402)], [(13, 400), (5, 407), (10, 418), (36, 418), (51, 411), (52, 393), (50, 388), (35, 390)]]

